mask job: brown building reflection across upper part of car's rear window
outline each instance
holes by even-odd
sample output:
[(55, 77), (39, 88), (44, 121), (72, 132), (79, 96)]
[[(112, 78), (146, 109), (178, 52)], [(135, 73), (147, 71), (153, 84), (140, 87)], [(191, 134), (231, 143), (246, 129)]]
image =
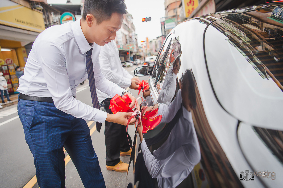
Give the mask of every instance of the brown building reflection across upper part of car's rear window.
[[(252, 13), (249, 14), (253, 15)], [(282, 28), (269, 22), (260, 23), (261, 18), (257, 18), (255, 15), (250, 19), (246, 16), (241, 18), (234, 16), (232, 19), (228, 17), (224, 19), (226, 23), (222, 22), (220, 25), (222, 25), (223, 30), (228, 31), (225, 32), (229, 38), (227, 41), (243, 54), (259, 75), (267, 79), (271, 77), (283, 90)], [(245, 20), (243, 21), (242, 18)]]

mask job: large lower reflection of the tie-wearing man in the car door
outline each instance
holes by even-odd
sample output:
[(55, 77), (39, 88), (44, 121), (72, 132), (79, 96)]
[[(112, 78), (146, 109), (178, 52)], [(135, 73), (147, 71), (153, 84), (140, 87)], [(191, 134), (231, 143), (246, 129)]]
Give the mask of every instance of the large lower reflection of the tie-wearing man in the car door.
[[(187, 70), (183, 76), (182, 90), (179, 89), (171, 104), (160, 104), (158, 109), (157, 115), (162, 115), (160, 123), (173, 123), (172, 127), (167, 126), (171, 128), (171, 132), (162, 146), (151, 154), (143, 139), (142, 126), (138, 128), (145, 166), (150, 176), (157, 179), (159, 188), (176, 187), (188, 177), (200, 161), (200, 146), (191, 113), (195, 107), (194, 78), (192, 72)], [(147, 107), (143, 113), (152, 108), (158, 108), (158, 104)], [(143, 176), (145, 174), (143, 173)], [(139, 187), (144, 187), (143, 185), (142, 183)], [(146, 185), (146, 187), (151, 186)]]

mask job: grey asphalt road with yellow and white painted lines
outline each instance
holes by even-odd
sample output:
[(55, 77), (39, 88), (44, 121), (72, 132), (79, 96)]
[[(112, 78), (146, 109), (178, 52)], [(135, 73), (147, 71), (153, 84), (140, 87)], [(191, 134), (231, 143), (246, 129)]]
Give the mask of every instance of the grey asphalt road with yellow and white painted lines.
[[(126, 68), (127, 71), (134, 75), (134, 69), (138, 67)], [(148, 79), (148, 76), (140, 77), (140, 80)], [(131, 90), (132, 91), (132, 90)], [(132, 91), (133, 95), (137, 97), (138, 91)], [(88, 82), (77, 88), (76, 98), (82, 102), (91, 104), (91, 95)], [(95, 130), (95, 123), (88, 123), (91, 132)], [(93, 128), (94, 127), (94, 128)], [(129, 126), (128, 132), (130, 136), (134, 137), (134, 126)], [(97, 130), (91, 135), (93, 147), (98, 156), (99, 164), (102, 174), (108, 188), (125, 187), (125, 180), (127, 173), (114, 172), (106, 170), (106, 151), (105, 151), (105, 137), (104, 126), (102, 125), (100, 133)], [(33, 178), (36, 174), (33, 163), (33, 156), (25, 142), (22, 123), (18, 118), (17, 105), (12, 105), (0, 110), (0, 188), (38, 188), (37, 183), (33, 185)], [(68, 154), (65, 152), (65, 162), (68, 161)], [(121, 157), (123, 162), (129, 161), (130, 157)], [(33, 178), (32, 181), (30, 181)], [(70, 160), (66, 165), (66, 187), (83, 187), (79, 174)]]

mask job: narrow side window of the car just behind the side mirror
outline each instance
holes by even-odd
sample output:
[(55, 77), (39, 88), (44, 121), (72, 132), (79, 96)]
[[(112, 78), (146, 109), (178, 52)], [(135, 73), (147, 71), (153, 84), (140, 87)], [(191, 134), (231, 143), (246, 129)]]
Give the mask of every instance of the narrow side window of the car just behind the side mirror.
[(156, 86), (156, 77), (158, 75), (158, 71), (166, 68), (166, 66), (165, 67), (162, 66), (162, 61), (164, 59), (164, 55), (166, 54), (168, 46), (170, 47), (172, 37), (173, 37), (173, 35), (171, 34), (170, 36), (168, 36), (166, 38), (166, 41), (164, 42), (164, 45), (160, 49), (160, 51), (158, 53), (158, 57), (155, 61), (155, 65), (154, 65), (153, 72), (152, 72), (152, 78), (153, 78), (153, 81), (155, 82), (155, 86)]

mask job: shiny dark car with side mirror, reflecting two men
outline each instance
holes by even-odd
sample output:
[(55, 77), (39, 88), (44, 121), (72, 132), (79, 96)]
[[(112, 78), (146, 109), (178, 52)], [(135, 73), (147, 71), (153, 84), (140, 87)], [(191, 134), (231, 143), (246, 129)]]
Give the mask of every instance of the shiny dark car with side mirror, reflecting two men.
[(282, 187), (282, 20), (277, 2), (171, 30), (153, 70), (134, 71), (162, 121), (135, 134), (126, 187)]

